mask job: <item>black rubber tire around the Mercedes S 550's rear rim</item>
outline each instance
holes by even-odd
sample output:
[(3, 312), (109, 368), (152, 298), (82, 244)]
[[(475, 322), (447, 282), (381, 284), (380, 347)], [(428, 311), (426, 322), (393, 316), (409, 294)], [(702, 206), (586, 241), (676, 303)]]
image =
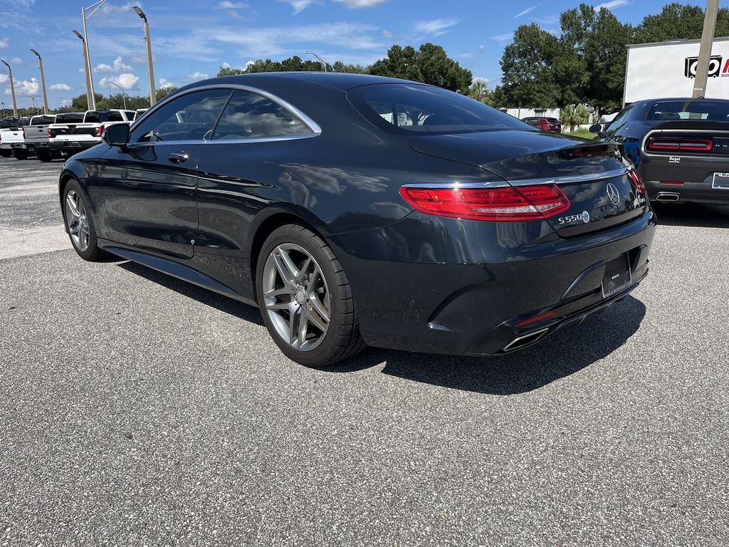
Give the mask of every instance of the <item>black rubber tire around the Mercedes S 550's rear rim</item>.
[[(263, 297), (264, 265), (274, 249), (281, 244), (295, 244), (305, 249), (319, 265), (330, 298), (330, 320), (327, 332), (319, 345), (309, 351), (300, 351), (278, 334), (265, 307)], [(281, 226), (266, 238), (256, 265), (258, 305), (263, 322), (273, 341), (290, 360), (307, 367), (321, 368), (342, 361), (361, 352), (365, 344), (359, 334), (359, 321), (351, 288), (342, 266), (332, 249), (316, 233), (300, 225)]]

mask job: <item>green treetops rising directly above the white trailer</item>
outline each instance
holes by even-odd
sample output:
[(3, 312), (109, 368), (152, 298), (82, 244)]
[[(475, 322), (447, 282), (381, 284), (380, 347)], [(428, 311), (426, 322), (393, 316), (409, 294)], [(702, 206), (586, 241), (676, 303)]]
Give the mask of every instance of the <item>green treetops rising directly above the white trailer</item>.
[[(634, 42), (664, 42), (666, 40), (692, 40), (701, 38), (703, 9), (673, 2), (666, 4), (660, 13), (647, 15), (636, 27)], [(717, 13), (714, 36), (729, 36), (729, 9), (722, 7)]]

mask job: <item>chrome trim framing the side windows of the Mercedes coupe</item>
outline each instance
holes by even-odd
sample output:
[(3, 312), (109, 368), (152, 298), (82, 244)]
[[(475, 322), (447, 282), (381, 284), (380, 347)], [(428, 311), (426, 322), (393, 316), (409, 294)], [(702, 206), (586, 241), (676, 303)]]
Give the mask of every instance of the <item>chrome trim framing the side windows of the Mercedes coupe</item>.
[[(144, 112), (144, 115), (142, 115), (137, 120), (134, 120), (130, 127), (129, 127), (129, 133), (131, 134), (132, 131), (134, 131), (135, 126), (144, 121), (144, 119), (157, 112), (158, 109), (165, 106), (165, 104), (168, 104), (171, 101), (174, 101), (176, 98), (180, 98), (182, 96), (188, 95), (190, 93), (197, 93), (198, 91), (208, 91), (208, 90), (216, 90), (216, 89), (223, 89), (223, 90), (230, 90), (233, 91), (247, 91), (249, 93), (255, 93), (256, 95), (260, 95), (264, 98), (268, 98), (269, 101), (272, 101), (275, 104), (278, 104), (278, 106), (281, 106), (281, 108), (287, 110), (290, 114), (294, 115), (297, 120), (299, 120), (301, 123), (306, 125), (308, 127), (309, 131), (311, 133), (300, 133), (297, 135), (281, 135), (281, 136), (274, 136), (274, 137), (261, 137), (261, 138), (254, 138), (254, 139), (230, 139), (230, 140), (222, 140), (224, 142), (227, 142), (228, 144), (235, 144), (235, 143), (243, 143), (243, 142), (271, 142), (271, 141), (282, 141), (282, 140), (290, 140), (291, 138), (295, 139), (304, 139), (308, 137), (314, 137), (321, 135), (321, 126), (319, 126), (318, 123), (316, 123), (314, 120), (311, 119), (311, 117), (308, 117), (303, 112), (301, 112), (300, 109), (297, 109), (296, 106), (289, 103), (288, 101), (284, 101), (284, 99), (273, 95), (273, 93), (269, 93), (268, 91), (259, 89), (259, 88), (253, 88), (250, 85), (239, 85), (239, 84), (211, 84), (211, 85), (200, 85), (197, 88), (190, 88), (187, 90), (184, 90), (180, 93), (171, 93), (169, 96), (166, 96), (161, 101), (155, 103), (154, 106), (151, 106), (147, 112)], [(230, 101), (230, 97), (228, 98), (228, 101)], [(225, 110), (225, 107), (227, 106), (227, 101), (225, 103), (225, 106), (223, 106), (223, 110)], [(222, 111), (220, 112), (222, 114)], [(215, 125), (217, 125), (218, 120), (216, 120)], [(288, 139), (286, 137), (289, 137)], [(199, 141), (163, 141), (164, 144), (179, 144), (181, 142), (195, 142), (196, 144), (202, 142), (203, 144), (209, 144), (212, 142), (215, 142), (211, 139), (202, 139)], [(129, 147), (136, 146), (137, 144), (152, 144), (152, 143), (138, 143), (135, 142), (133, 144), (130, 144)]]

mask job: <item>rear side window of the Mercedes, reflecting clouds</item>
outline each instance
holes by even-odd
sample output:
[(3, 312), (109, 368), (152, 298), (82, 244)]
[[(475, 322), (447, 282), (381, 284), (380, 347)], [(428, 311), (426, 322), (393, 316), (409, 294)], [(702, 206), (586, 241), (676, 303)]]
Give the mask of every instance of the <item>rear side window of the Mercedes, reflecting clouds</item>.
[(305, 133), (311, 133), (311, 129), (283, 106), (256, 93), (235, 91), (212, 139), (260, 139)]

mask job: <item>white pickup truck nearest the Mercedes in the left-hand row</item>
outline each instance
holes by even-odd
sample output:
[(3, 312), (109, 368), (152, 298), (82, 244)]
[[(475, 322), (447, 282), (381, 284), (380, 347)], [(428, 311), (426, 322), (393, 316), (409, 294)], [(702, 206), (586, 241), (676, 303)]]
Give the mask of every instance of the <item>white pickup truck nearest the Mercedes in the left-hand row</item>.
[(134, 111), (87, 110), (82, 120), (66, 120), (61, 116), (48, 126), (50, 150), (53, 155), (70, 156), (99, 144), (109, 125), (131, 123)]

